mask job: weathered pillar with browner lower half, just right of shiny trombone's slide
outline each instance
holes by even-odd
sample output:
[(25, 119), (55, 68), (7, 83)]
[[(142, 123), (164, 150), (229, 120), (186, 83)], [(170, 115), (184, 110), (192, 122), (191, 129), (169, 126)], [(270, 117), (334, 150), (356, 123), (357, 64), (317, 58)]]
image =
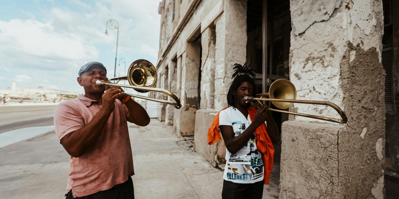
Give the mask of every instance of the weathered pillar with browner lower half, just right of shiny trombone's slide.
[(183, 66), (182, 114), (180, 116), (180, 133), (182, 136), (194, 135), (196, 111), (198, 109), (198, 73), (201, 45), (187, 42), (186, 60)]

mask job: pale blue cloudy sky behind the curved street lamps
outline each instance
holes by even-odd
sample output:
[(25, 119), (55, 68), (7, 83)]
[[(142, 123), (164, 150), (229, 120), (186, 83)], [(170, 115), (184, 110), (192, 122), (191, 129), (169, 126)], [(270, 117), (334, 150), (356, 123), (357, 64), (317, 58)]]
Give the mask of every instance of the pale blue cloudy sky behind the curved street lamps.
[(79, 68), (96, 60), (113, 77), (119, 22), (117, 72), (136, 59), (156, 64), (161, 0), (0, 1), (0, 89), (17, 87), (83, 92)]

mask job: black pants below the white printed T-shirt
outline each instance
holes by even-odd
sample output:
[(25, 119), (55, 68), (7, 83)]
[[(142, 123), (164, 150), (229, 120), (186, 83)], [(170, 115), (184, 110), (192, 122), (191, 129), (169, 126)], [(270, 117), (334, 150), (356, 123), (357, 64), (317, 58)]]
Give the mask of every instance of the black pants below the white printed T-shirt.
[(263, 180), (249, 184), (240, 184), (223, 180), (223, 199), (261, 199), (262, 195)]

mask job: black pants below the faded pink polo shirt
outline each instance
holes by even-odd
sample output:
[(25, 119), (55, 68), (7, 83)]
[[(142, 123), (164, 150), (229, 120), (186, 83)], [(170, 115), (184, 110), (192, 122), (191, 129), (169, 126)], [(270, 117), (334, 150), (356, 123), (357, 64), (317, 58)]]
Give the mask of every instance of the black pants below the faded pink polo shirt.
[[(65, 199), (74, 199), (72, 190), (69, 190)], [(111, 189), (99, 191), (83, 197), (76, 197), (76, 199), (134, 199), (132, 178), (129, 176), (126, 182), (115, 185)]]

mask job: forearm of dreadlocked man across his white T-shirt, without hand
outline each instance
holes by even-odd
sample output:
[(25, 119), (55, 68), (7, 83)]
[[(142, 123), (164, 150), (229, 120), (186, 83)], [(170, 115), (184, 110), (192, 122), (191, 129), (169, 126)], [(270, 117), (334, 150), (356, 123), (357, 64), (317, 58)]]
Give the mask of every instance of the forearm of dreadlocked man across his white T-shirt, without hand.
[(239, 151), (241, 148), (243, 148), (243, 146), (247, 144), (248, 140), (252, 137), (253, 133), (258, 127), (258, 125), (251, 124), (240, 135), (228, 140), (224, 139), (227, 150), (229, 150), (229, 152), (231, 153), (236, 153), (237, 151)]

